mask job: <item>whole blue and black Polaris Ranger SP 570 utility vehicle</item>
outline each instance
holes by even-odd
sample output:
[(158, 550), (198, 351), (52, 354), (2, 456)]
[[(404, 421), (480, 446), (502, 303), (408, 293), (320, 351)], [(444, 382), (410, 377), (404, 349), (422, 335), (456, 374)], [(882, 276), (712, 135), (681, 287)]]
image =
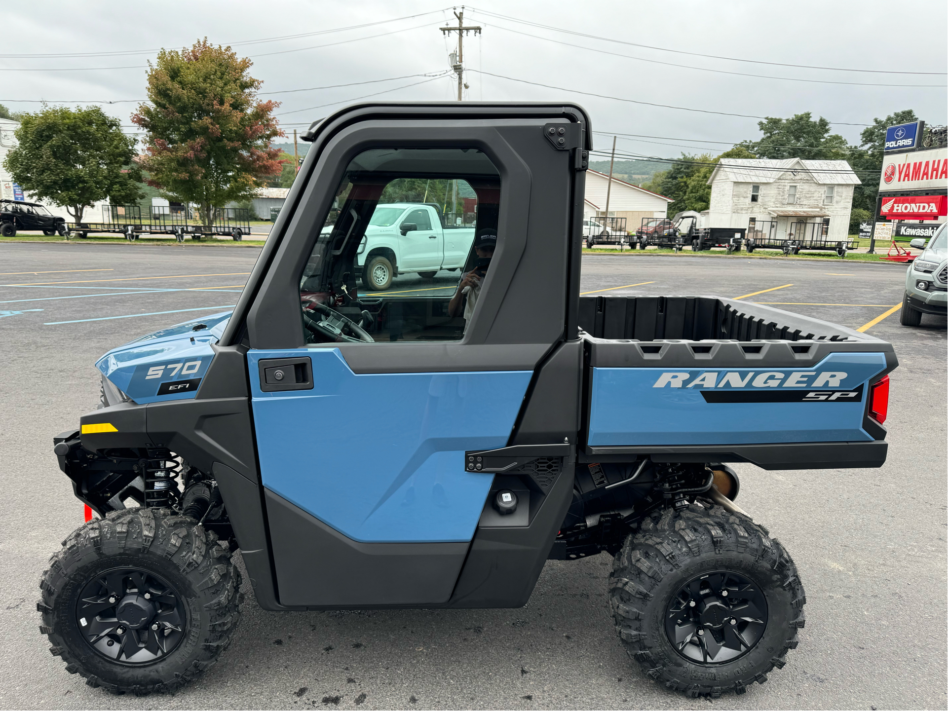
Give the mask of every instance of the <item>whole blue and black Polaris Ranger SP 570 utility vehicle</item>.
[[(718, 696), (783, 666), (802, 584), (726, 463), (882, 465), (892, 347), (715, 297), (580, 298), (578, 106), (363, 104), (304, 138), (232, 314), (103, 356), (104, 407), (55, 438), (99, 516), (42, 583), (66, 669), (190, 682), (236, 629), (238, 548), (270, 611), (519, 607), (549, 558), (606, 553), (651, 678)], [(485, 270), (465, 318), (457, 282), (362, 291), (376, 205), (461, 183), (496, 235), (450, 273)]]

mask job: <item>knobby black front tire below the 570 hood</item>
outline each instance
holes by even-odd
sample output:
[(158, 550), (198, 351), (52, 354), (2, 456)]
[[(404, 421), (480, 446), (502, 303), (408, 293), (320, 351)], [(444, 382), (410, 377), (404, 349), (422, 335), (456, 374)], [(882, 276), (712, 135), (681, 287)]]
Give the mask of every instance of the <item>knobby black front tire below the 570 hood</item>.
[[(137, 578), (136, 574), (121, 573), (129, 570), (141, 573)], [(117, 595), (121, 600), (115, 608), (95, 613), (95, 608), (89, 607), (90, 599), (100, 601), (97, 607), (107, 603), (110, 593), (105, 591), (111, 591), (118, 580), (125, 588)], [(149, 602), (164, 611), (152, 618), (155, 623), (146, 622), (135, 630), (135, 639), (155, 629), (148, 627), (151, 624), (163, 626), (163, 620), (178, 621), (181, 631), (169, 631), (169, 642), (162, 643), (167, 650), (154, 660), (129, 664), (104, 653), (115, 654), (116, 646), (124, 645), (121, 634), (102, 637), (96, 648), (82, 630), (116, 624), (108, 620), (116, 620), (119, 614), (127, 619), (127, 614), (118, 610), (122, 600), (143, 594), (141, 589), (128, 592), (136, 580), (148, 581), (142, 587), (152, 590)], [(240, 584), (240, 571), (230, 560), (228, 544), (193, 519), (174, 515), (169, 509), (116, 511), (78, 528), (50, 558), (40, 581), (43, 596), (36, 606), (43, 614), (40, 631), (52, 643), (49, 651), (63, 658), (66, 671), (82, 675), (90, 686), (117, 694), (173, 692), (213, 665), (228, 647), (240, 620)], [(158, 590), (165, 585), (173, 595)], [(163, 602), (168, 600), (178, 602), (169, 606)], [(178, 605), (177, 614), (168, 612), (174, 604)], [(131, 630), (124, 634), (131, 634)], [(127, 657), (121, 648), (118, 657)]]

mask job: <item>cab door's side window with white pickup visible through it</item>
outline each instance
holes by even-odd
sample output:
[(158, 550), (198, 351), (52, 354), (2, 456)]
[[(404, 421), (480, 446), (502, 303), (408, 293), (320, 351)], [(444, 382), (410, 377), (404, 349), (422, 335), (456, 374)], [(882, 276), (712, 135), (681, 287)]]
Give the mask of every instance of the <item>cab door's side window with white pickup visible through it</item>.
[(300, 280), (306, 342), (457, 341), (497, 244), (476, 149), (373, 149), (347, 167)]

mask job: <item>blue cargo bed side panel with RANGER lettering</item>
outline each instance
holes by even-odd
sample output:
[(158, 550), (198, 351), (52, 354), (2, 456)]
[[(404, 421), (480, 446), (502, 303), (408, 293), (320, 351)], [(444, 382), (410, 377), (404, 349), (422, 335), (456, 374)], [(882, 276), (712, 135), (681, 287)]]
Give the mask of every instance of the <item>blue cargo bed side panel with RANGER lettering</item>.
[[(589, 444), (865, 442), (872, 439), (863, 429), (868, 381), (884, 369), (881, 353), (834, 353), (809, 368), (594, 368)], [(843, 376), (823, 378), (837, 386), (814, 387), (820, 374)], [(758, 375), (764, 376), (758, 380)], [(786, 387), (788, 382), (799, 386)], [(739, 389), (763, 397), (787, 392), (802, 397), (860, 386), (858, 401), (708, 402), (705, 394)]]

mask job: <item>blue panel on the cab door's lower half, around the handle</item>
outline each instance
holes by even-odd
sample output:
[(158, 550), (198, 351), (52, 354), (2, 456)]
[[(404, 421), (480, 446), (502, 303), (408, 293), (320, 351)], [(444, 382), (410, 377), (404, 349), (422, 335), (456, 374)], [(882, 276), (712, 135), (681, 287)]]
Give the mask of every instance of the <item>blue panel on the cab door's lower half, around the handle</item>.
[[(313, 390), (261, 392), (261, 358), (310, 356)], [(264, 486), (362, 542), (468, 541), (530, 371), (355, 374), (338, 349), (250, 351)]]

